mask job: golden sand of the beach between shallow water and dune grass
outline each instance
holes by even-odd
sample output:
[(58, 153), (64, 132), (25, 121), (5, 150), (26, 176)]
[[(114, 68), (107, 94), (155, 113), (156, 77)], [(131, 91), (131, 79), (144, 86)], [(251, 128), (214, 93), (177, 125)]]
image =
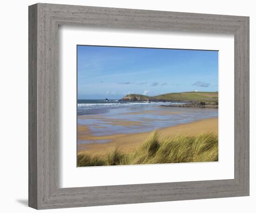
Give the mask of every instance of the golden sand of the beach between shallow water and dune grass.
[[(115, 121), (114, 121), (115, 122)], [(123, 125), (121, 123), (120, 125)], [(118, 125), (118, 124), (116, 124)], [(180, 124), (177, 126), (165, 127), (158, 130), (160, 139), (168, 136), (176, 135), (195, 135), (198, 133), (215, 133), (218, 134), (218, 119), (202, 119), (195, 122)], [(90, 132), (88, 126), (78, 126), (78, 140), (80, 141), (94, 141), (102, 140), (109, 141), (106, 143), (89, 143), (79, 144), (78, 153), (88, 153), (90, 155), (105, 155), (111, 149), (117, 147), (121, 151), (128, 153), (147, 139), (151, 132), (131, 133), (131, 134), (112, 134), (106, 136), (94, 136)]]

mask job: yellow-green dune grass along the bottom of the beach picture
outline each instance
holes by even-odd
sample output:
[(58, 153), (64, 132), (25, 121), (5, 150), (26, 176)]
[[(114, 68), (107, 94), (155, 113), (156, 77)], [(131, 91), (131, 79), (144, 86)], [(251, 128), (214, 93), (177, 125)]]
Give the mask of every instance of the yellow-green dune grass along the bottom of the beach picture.
[(212, 133), (180, 135), (159, 141), (158, 133), (154, 131), (133, 153), (122, 153), (115, 148), (106, 156), (77, 156), (79, 167), (210, 161), (218, 161), (218, 136)]

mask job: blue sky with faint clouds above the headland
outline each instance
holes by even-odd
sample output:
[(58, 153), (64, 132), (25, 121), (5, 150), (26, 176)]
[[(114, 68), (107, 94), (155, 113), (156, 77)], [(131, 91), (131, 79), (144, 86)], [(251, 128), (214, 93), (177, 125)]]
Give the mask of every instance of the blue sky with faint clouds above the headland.
[(218, 52), (77, 46), (78, 99), (218, 91)]

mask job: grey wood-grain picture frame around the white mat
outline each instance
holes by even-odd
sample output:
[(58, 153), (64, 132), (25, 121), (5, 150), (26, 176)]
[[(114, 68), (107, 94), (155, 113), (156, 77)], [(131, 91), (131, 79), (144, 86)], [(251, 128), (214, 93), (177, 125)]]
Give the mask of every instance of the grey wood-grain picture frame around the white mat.
[[(58, 186), (58, 26), (232, 33), (235, 36), (235, 178)], [(249, 17), (86, 7), (29, 6), (29, 206), (100, 206), (249, 195)]]

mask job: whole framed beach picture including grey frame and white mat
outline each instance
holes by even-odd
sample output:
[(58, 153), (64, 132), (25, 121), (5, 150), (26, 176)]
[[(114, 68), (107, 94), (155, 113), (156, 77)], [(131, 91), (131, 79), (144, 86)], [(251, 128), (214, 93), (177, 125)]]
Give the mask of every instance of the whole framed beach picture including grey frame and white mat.
[(249, 195), (249, 17), (29, 6), (29, 206)]

